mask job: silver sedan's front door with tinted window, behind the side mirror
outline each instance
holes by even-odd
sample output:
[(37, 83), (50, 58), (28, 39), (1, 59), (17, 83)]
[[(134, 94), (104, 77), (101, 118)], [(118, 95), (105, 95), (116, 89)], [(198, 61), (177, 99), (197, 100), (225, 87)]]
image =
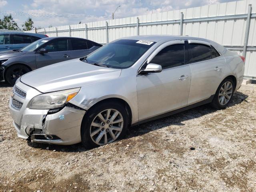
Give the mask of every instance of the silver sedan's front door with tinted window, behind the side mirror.
[(184, 41), (170, 43), (150, 62), (160, 64), (162, 72), (137, 76), (140, 121), (187, 106), (190, 66), (185, 55)]

